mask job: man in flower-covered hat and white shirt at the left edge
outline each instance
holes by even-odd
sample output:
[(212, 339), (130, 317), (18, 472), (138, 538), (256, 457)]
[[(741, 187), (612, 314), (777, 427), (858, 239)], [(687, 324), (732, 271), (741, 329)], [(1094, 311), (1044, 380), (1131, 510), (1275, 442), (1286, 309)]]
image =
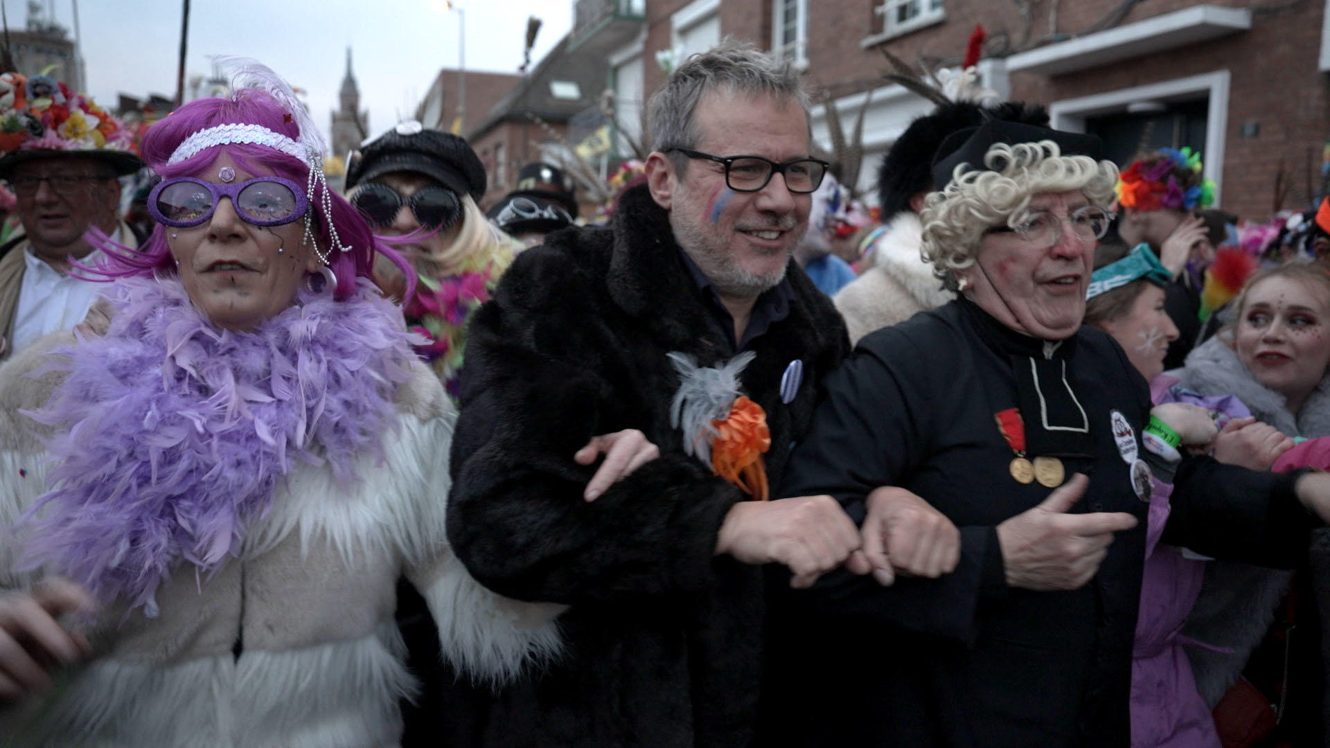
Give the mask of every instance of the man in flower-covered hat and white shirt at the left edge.
[[(100, 117), (114, 125), (112, 134), (125, 134), (110, 114)], [(40, 118), (31, 121), (43, 126)], [(23, 233), (0, 246), (0, 359), (88, 315), (100, 286), (70, 276), (69, 261), (94, 261), (89, 257), (93, 248), (84, 241), (90, 226), (125, 246), (138, 246), (120, 218), (117, 177), (140, 168), (137, 156), (108, 145), (105, 136), (97, 145), (90, 138), (66, 140), (56, 128), (44, 133), (41, 145), (15, 146), (0, 157), (0, 178), (19, 198), (15, 210), (23, 224)]]

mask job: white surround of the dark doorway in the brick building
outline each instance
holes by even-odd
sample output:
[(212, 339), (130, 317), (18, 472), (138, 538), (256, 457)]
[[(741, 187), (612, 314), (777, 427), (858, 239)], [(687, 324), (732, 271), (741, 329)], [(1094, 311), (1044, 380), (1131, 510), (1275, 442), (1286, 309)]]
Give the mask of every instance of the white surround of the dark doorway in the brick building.
[(1214, 181), (1214, 204), (1222, 205), (1224, 153), (1229, 126), (1229, 84), (1232, 79), (1229, 71), (1214, 71), (1213, 73), (1123, 88), (1108, 93), (1065, 98), (1048, 106), (1048, 117), (1052, 120), (1053, 129), (1083, 133), (1088, 117), (1123, 112), (1132, 101), (1181, 101), (1194, 97), (1197, 93), (1209, 96), (1209, 109), (1205, 114), (1205, 152), (1201, 154), (1201, 160), (1205, 165), (1206, 178)]

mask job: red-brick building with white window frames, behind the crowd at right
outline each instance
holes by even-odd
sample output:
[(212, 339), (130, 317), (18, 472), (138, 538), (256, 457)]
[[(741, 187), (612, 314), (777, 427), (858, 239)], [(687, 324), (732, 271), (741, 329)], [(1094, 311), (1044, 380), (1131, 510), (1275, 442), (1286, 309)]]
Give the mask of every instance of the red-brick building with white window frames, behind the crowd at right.
[[(605, 52), (617, 121), (633, 134), (641, 102), (672, 61), (732, 35), (793, 57), (809, 91), (834, 102), (846, 132), (863, 112), (859, 186), (870, 188), (882, 153), (930, 108), (899, 85), (883, 85), (888, 67), (878, 47), (911, 64), (956, 65), (975, 24), (983, 24), (982, 85), (1047, 104), (1055, 126), (1100, 134), (1120, 161), (1141, 146), (1200, 149), (1221, 204), (1254, 220), (1277, 206), (1299, 208), (1321, 189), (1330, 136), (1330, 0), (636, 4), (636, 33)], [(826, 144), (826, 133), (819, 105), (814, 136)], [(1289, 188), (1282, 194), (1277, 177)]]

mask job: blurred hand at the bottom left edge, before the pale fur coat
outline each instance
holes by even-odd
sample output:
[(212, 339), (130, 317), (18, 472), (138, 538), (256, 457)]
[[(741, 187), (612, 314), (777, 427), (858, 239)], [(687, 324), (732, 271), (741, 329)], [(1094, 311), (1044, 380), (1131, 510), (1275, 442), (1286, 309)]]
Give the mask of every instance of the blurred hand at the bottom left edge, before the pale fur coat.
[(88, 640), (56, 618), (96, 608), (82, 587), (64, 579), (43, 582), (32, 592), (0, 594), (0, 699), (47, 691), (52, 667), (86, 657)]

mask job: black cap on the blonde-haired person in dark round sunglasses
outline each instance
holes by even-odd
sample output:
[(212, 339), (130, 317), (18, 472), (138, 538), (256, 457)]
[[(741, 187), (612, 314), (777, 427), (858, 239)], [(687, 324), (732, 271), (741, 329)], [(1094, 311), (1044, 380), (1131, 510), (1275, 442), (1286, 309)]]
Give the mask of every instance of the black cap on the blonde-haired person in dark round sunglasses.
[(467, 141), (423, 128), (420, 122), (402, 122), (354, 153), (346, 170), (346, 186), (350, 189), (390, 172), (416, 172), (477, 201), (485, 194), (485, 166)]

